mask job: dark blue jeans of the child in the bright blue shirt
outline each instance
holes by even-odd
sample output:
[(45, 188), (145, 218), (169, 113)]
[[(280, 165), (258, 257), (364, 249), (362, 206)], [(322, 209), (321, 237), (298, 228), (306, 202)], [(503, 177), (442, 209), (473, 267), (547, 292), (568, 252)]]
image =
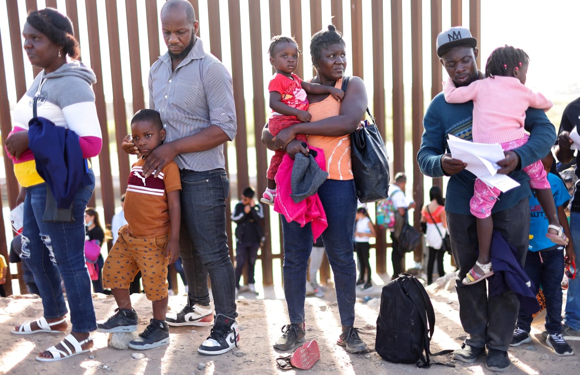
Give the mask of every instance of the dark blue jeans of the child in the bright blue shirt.
[[(560, 333), (562, 326), (562, 287), (564, 276), (564, 251), (549, 250), (545, 252), (528, 251), (524, 264), (525, 273), (535, 286), (538, 294), (542, 285), (546, 297), (546, 330), (550, 334)], [(530, 332), (532, 316), (520, 310), (517, 316), (517, 327)]]

